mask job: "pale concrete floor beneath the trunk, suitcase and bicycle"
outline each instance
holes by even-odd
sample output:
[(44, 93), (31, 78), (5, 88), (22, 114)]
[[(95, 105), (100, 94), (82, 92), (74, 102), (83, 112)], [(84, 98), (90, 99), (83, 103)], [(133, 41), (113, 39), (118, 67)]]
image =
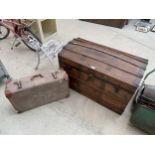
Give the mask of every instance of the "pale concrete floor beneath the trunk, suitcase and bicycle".
[[(123, 29), (79, 20), (57, 20), (57, 36), (64, 43), (82, 37), (149, 59), (147, 72), (155, 67), (155, 33), (136, 32), (131, 21)], [(0, 41), (0, 59), (10, 75), (17, 79), (42, 70), (50, 70), (47, 60), (38, 71), (36, 54), (24, 45), (10, 50), (12, 36)], [(155, 84), (155, 78), (147, 80)], [(146, 134), (129, 123), (131, 102), (125, 112), (115, 112), (70, 90), (70, 97), (17, 114), (0, 86), (0, 134)]]

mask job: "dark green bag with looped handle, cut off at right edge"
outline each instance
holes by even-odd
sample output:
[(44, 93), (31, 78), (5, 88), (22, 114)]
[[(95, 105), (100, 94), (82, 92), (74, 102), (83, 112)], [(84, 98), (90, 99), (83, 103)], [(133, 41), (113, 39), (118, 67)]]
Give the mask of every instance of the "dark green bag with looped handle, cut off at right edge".
[(145, 80), (153, 72), (155, 72), (155, 69), (144, 77), (135, 95), (133, 114), (130, 119), (133, 125), (149, 134), (155, 134), (155, 86), (146, 85)]

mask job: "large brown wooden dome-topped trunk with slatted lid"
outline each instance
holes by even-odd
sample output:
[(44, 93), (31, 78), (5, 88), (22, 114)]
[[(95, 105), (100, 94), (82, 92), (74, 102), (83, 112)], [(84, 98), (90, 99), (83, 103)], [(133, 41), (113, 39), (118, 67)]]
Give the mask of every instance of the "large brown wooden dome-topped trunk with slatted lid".
[(70, 87), (121, 114), (143, 77), (148, 60), (81, 38), (59, 54)]

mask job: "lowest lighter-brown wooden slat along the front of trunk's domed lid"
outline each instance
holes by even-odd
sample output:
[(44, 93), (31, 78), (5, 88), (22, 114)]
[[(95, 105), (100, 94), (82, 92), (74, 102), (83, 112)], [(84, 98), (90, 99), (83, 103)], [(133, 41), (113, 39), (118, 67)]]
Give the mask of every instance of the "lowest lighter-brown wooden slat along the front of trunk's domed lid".
[(109, 78), (109, 80), (117, 81), (117, 83), (119, 82), (124, 83), (125, 85), (128, 85), (129, 89), (131, 88), (132, 90), (134, 90), (138, 86), (138, 83), (133, 83), (135, 79), (137, 79), (137, 81), (139, 82), (141, 80), (139, 77), (135, 77), (134, 75), (131, 75), (129, 73), (124, 74), (123, 71), (116, 69), (116, 68), (111, 68), (111, 70), (109, 71), (107, 69), (109, 67), (108, 65), (92, 60), (92, 59), (87, 59), (84, 56), (70, 52), (65, 49), (64, 49), (64, 52), (61, 53), (60, 56), (72, 61), (73, 63), (77, 63), (81, 65), (81, 67), (85, 66), (85, 68), (91, 69), (91, 66), (93, 66), (95, 67), (95, 71), (97, 73), (101, 73), (101, 75), (104, 76), (104, 78), (107, 77)]

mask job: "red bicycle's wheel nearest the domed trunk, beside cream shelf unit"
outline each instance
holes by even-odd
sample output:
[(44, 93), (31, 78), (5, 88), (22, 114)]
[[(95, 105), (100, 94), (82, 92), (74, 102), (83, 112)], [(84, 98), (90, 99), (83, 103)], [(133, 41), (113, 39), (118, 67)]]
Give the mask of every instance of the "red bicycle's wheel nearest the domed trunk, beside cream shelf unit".
[(21, 39), (23, 43), (32, 51), (36, 52), (41, 47), (40, 39), (29, 29), (22, 30)]

